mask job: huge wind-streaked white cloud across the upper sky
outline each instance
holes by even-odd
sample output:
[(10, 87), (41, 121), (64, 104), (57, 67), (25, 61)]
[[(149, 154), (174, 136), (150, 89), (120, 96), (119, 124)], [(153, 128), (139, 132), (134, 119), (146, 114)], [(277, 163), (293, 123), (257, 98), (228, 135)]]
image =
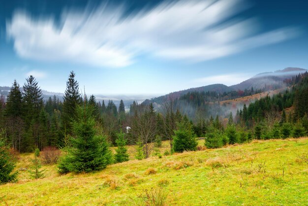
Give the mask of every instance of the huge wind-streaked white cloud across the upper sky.
[(163, 2), (151, 10), (123, 17), (123, 6), (101, 5), (93, 11), (34, 19), (17, 11), (7, 35), (24, 58), (70, 61), (99, 67), (125, 67), (140, 54), (200, 62), (249, 48), (277, 43), (298, 32), (282, 28), (257, 34), (257, 21), (222, 23), (244, 7), (241, 0)]

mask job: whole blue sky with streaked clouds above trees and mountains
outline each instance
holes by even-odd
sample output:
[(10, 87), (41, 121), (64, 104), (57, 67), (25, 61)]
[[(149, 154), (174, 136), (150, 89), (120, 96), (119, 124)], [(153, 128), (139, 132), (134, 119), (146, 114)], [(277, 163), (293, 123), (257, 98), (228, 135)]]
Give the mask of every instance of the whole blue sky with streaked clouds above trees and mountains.
[(0, 0), (0, 86), (150, 95), (308, 69), (307, 0)]

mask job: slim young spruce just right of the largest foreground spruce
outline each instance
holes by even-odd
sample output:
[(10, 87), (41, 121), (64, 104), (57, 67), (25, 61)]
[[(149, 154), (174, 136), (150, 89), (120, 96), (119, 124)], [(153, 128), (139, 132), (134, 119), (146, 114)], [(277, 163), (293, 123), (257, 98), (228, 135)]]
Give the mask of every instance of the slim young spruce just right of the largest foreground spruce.
[(127, 154), (127, 148), (126, 148), (126, 139), (124, 139), (125, 134), (120, 131), (120, 133), (117, 134), (117, 139), (116, 143), (118, 148), (116, 149), (116, 154), (115, 154), (115, 162), (120, 163), (120, 162), (126, 162), (129, 160), (129, 156)]

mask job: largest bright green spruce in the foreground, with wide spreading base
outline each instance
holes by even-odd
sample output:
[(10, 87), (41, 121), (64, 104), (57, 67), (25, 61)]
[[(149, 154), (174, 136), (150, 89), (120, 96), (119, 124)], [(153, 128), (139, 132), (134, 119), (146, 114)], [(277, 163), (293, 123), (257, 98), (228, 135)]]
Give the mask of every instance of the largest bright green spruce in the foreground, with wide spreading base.
[(91, 106), (76, 107), (76, 119), (72, 123), (75, 138), (58, 166), (60, 173), (92, 172), (104, 169), (112, 161), (112, 153), (104, 137), (95, 136), (95, 121)]

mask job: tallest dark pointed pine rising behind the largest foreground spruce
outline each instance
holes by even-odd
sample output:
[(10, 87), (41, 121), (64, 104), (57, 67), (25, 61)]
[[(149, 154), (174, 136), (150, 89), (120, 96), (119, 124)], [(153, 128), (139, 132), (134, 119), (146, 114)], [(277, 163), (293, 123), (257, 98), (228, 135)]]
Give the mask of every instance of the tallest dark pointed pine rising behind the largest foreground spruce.
[(67, 134), (71, 134), (71, 121), (76, 116), (75, 108), (81, 103), (79, 85), (77, 80), (75, 80), (74, 71), (71, 71), (69, 74), (63, 100), (62, 130), (65, 127)]

